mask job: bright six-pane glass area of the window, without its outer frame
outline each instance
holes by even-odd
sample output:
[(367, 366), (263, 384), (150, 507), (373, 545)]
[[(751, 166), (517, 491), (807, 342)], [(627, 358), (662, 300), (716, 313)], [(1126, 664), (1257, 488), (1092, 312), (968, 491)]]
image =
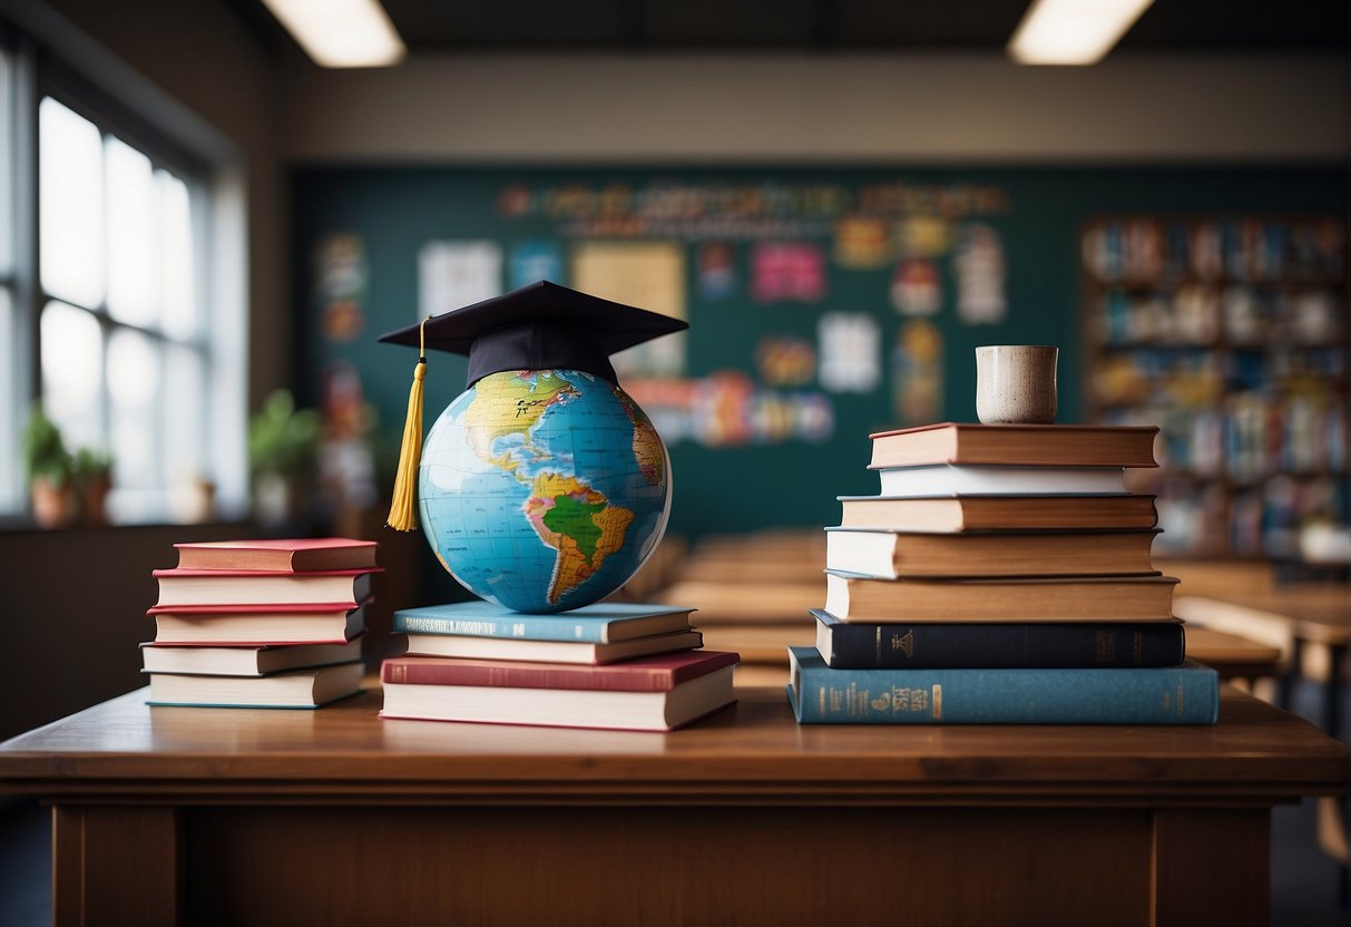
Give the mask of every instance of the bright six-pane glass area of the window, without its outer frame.
[(62, 101), (38, 105), (42, 396), (111, 454), (116, 520), (165, 518), (205, 476), (205, 339), (188, 180)]

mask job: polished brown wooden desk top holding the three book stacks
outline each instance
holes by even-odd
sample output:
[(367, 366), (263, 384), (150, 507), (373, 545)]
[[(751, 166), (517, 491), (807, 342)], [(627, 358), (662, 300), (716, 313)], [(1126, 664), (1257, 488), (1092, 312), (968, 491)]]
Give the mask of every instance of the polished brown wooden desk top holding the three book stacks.
[(793, 722), (778, 689), (673, 734), (376, 716), (378, 689), (320, 711), (149, 708), (145, 691), (0, 745), (0, 791), (182, 803), (1050, 804), (1131, 796), (1343, 793), (1347, 749), (1225, 689), (1215, 727), (865, 727)]

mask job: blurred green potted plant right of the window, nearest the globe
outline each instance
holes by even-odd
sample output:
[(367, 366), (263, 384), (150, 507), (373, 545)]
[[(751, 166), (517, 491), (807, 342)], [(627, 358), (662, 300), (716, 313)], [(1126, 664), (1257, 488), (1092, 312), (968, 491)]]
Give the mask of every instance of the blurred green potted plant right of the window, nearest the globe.
[(315, 409), (297, 409), (288, 389), (277, 389), (249, 422), (249, 466), (259, 520), (295, 519), (315, 474), (320, 420)]

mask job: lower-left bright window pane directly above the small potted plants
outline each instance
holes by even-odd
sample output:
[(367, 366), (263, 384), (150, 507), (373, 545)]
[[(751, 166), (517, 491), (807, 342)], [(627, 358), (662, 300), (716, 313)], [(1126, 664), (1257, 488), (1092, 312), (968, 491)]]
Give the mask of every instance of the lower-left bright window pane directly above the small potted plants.
[(42, 404), (70, 450), (103, 447), (103, 331), (84, 309), (42, 309)]

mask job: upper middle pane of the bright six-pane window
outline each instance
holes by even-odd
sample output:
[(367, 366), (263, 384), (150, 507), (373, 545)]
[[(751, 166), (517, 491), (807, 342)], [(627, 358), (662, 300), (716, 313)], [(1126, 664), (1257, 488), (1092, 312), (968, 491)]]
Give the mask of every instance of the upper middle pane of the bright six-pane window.
[(155, 322), (154, 185), (150, 158), (116, 138), (104, 146), (108, 180), (108, 312)]

